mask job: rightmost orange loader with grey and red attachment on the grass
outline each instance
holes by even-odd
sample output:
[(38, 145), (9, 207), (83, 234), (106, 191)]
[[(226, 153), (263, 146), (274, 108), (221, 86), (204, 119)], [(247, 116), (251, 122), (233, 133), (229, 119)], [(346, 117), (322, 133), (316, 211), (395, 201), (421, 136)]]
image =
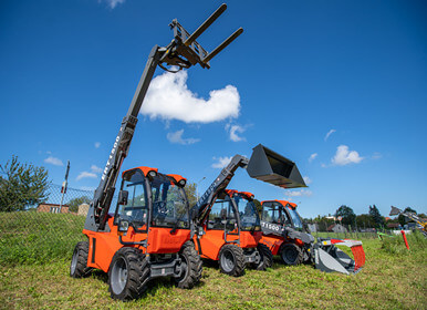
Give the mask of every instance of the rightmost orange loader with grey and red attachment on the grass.
[[(296, 211), (296, 205), (287, 200), (261, 203), (261, 242), (273, 255), (279, 255), (285, 265), (313, 262), (325, 272), (356, 273), (365, 264), (362, 241), (348, 239), (317, 238), (310, 234)], [(337, 246), (350, 247), (354, 259)]]

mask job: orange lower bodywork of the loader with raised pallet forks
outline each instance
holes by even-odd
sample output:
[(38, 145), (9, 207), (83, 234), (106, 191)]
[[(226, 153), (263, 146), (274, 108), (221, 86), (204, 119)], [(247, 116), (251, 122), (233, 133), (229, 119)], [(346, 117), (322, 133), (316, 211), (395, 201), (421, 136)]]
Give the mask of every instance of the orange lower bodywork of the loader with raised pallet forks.
[[(118, 240), (117, 226), (113, 225), (113, 218), (108, 219), (110, 232), (98, 232), (83, 229), (88, 238), (87, 267), (93, 267), (108, 272), (110, 264), (117, 250), (124, 247)], [(144, 227), (142, 228), (144, 229)], [(126, 236), (122, 236), (124, 242), (140, 242), (147, 239), (147, 234), (135, 232), (129, 227)], [(150, 227), (147, 248), (135, 245), (148, 254), (174, 254), (179, 252), (183, 245), (190, 239), (189, 229), (177, 229), (170, 234), (170, 228)]]

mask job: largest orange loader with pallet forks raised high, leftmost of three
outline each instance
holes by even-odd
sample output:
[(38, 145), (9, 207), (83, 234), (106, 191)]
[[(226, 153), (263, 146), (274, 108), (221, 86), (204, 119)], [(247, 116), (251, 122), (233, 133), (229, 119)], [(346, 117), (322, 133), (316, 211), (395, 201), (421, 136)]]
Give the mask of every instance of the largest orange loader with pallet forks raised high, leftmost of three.
[(83, 234), (88, 241), (75, 246), (70, 267), (74, 278), (87, 276), (93, 268), (107, 272), (114, 299), (140, 297), (154, 278), (171, 277), (179, 288), (191, 288), (201, 277), (184, 177), (145, 166), (126, 170), (117, 207), (114, 213), (110, 208), (156, 68), (171, 73), (196, 64), (209, 69), (209, 61), (243, 31), (238, 29), (210, 53), (196, 41), (226, 8), (220, 6), (192, 34), (173, 20), (174, 39), (167, 46), (153, 48), (114, 141), (84, 224)]

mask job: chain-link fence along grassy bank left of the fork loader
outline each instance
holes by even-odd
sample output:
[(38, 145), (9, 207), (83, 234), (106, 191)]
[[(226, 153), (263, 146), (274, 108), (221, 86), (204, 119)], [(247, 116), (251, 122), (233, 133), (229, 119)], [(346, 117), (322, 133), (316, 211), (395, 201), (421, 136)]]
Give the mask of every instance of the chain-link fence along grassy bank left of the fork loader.
[(48, 193), (42, 204), (0, 213), (0, 264), (70, 259), (75, 244), (85, 239), (82, 229), (94, 192), (67, 188), (62, 194), (60, 185), (51, 185)]

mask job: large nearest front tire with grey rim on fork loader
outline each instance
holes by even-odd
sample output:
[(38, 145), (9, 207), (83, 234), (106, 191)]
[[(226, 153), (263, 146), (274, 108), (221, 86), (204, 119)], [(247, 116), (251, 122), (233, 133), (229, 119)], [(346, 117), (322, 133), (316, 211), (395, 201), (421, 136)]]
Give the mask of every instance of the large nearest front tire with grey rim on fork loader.
[(147, 289), (149, 266), (146, 256), (136, 248), (121, 248), (108, 270), (108, 291), (113, 299), (139, 298)]

